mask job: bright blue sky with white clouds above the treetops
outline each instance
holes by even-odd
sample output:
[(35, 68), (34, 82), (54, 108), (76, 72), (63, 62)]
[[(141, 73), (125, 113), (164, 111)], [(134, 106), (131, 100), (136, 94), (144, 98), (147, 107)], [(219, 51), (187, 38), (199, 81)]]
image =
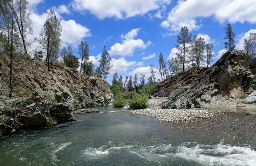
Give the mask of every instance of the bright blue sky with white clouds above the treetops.
[[(134, 77), (150, 76), (149, 65), (158, 68), (158, 55), (165, 62), (175, 56), (177, 35), (187, 27), (192, 36), (213, 43), (214, 64), (225, 53), (225, 27), (236, 33), (235, 49), (256, 32), (255, 0), (27, 0), (33, 35), (39, 37), (50, 9), (62, 26), (62, 47), (71, 46), (79, 57), (78, 45), (86, 41), (90, 60), (98, 67), (102, 49), (111, 57), (109, 84), (115, 72)], [(35, 42), (30, 51), (38, 47)], [(159, 76), (158, 69), (157, 78)]]

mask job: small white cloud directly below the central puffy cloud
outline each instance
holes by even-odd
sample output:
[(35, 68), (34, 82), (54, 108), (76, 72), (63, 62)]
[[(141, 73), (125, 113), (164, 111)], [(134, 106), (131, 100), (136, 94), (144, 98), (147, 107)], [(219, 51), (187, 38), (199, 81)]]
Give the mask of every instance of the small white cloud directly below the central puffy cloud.
[(135, 61), (127, 61), (122, 57), (121, 59), (112, 59), (111, 65), (113, 67), (109, 70), (110, 74), (114, 74), (115, 72), (121, 73), (126, 72), (131, 67), (138, 67), (143, 65), (143, 62), (135, 62)]

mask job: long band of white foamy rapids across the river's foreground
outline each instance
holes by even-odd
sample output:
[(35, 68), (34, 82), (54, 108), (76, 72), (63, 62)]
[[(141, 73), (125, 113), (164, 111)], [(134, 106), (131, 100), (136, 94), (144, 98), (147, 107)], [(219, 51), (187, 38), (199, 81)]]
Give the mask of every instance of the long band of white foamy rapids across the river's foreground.
[(119, 146), (87, 148), (86, 157), (99, 159), (110, 154), (127, 153), (147, 161), (161, 163), (174, 159), (196, 162), (200, 165), (256, 165), (256, 152), (250, 147), (238, 147), (222, 144), (202, 145), (185, 143), (180, 146), (159, 144), (155, 146)]

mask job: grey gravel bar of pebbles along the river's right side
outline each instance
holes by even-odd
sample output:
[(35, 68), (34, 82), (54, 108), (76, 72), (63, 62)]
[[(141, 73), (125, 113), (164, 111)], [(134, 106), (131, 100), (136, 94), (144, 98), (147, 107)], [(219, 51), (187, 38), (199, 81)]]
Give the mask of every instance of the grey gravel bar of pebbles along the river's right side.
[(177, 129), (211, 130), (223, 132), (231, 137), (243, 136), (256, 139), (256, 115), (251, 113), (236, 113), (230, 111), (203, 109), (161, 109), (166, 97), (149, 99), (149, 108), (130, 110), (131, 113), (143, 114), (172, 123)]

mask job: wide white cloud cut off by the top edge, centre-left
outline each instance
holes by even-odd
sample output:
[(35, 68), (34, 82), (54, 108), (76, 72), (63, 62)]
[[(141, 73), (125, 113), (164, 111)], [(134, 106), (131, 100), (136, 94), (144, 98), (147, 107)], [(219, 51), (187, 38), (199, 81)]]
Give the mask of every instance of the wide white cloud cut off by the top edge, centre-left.
[(135, 15), (143, 15), (149, 11), (158, 10), (161, 6), (168, 5), (171, 0), (73, 0), (71, 5), (76, 11), (89, 11), (99, 19), (115, 17), (126, 19)]

